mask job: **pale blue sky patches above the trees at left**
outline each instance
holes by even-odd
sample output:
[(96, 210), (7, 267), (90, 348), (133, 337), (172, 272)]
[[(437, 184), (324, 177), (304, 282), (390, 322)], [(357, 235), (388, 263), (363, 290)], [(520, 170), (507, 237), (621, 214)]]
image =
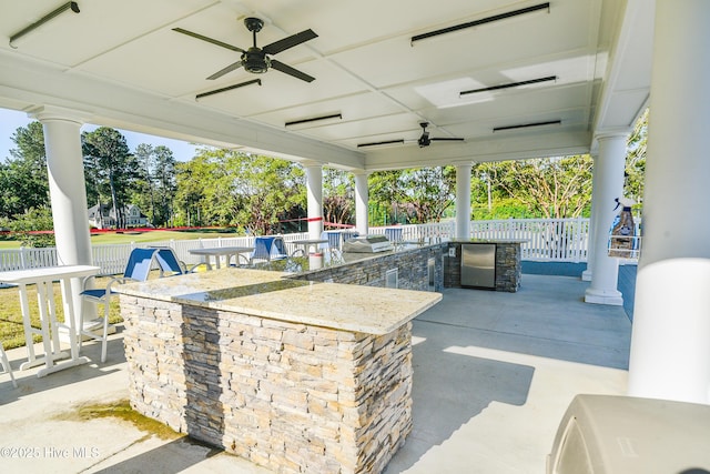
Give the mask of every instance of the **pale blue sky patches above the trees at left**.
[[(27, 117), (27, 113), (24, 112), (0, 109), (0, 162), (10, 158), (10, 150), (16, 148), (14, 142), (12, 141), (12, 135), (17, 129), (20, 127), (27, 127), (30, 122), (32, 122), (32, 119)], [(81, 128), (81, 131), (92, 131), (97, 128), (98, 125), (85, 124)], [(125, 141), (132, 152), (135, 151), (135, 148), (141, 143), (152, 144), (153, 147), (162, 144), (172, 150), (175, 160), (190, 161), (195, 155), (195, 149), (199, 148), (180, 140), (146, 135), (144, 133), (130, 132), (120, 129), (119, 131), (123, 137), (125, 137)]]

